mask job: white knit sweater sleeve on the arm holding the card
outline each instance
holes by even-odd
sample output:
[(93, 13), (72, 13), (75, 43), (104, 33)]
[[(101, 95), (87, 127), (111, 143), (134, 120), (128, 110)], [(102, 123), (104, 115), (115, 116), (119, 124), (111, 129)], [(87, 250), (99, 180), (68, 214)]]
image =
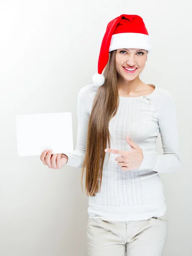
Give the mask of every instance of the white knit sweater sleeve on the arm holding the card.
[(68, 162), (65, 166), (82, 167), (85, 159), (85, 150), (87, 143), (89, 113), (88, 104), (90, 102), (87, 87), (82, 87), (77, 98), (77, 143), (76, 148), (71, 153), (65, 153)]

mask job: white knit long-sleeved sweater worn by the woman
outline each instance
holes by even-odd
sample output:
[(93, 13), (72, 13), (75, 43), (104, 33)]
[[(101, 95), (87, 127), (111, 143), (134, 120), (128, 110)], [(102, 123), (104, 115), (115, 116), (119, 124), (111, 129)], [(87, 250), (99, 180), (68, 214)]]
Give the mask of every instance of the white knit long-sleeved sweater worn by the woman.
[[(82, 167), (93, 99), (98, 87), (89, 84), (79, 91), (77, 100), (77, 144), (68, 156), (67, 166)], [(110, 148), (131, 150), (128, 134), (142, 150), (139, 169), (121, 171), (115, 158), (105, 153), (102, 186), (96, 196), (89, 197), (88, 215), (109, 221), (135, 221), (160, 217), (166, 212), (163, 185), (159, 172), (175, 172), (180, 167), (179, 138), (175, 102), (167, 90), (155, 87), (147, 96), (121, 97), (116, 115), (109, 122)], [(161, 134), (164, 154), (156, 151)], [(107, 143), (107, 147), (109, 145)]]

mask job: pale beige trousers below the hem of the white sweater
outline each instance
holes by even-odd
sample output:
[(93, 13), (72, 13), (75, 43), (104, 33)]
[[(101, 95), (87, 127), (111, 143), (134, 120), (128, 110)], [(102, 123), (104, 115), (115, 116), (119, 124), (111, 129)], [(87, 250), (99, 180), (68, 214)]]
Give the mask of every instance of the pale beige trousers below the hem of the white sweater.
[(88, 218), (88, 256), (161, 256), (167, 230), (166, 215), (141, 221)]

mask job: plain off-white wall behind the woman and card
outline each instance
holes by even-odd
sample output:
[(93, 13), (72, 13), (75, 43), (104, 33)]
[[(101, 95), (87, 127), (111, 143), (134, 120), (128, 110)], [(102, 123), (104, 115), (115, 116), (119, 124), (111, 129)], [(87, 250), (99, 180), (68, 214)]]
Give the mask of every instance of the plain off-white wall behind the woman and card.
[[(92, 83), (107, 23), (140, 15), (152, 38), (141, 80), (175, 99), (181, 169), (160, 174), (169, 230), (163, 256), (192, 252), (192, 6), (189, 0), (0, 1), (0, 255), (85, 256), (81, 169), (17, 155), (15, 115), (71, 112)], [(50, 120), (51, 122), (51, 120)], [(162, 154), (158, 137), (158, 151)]]

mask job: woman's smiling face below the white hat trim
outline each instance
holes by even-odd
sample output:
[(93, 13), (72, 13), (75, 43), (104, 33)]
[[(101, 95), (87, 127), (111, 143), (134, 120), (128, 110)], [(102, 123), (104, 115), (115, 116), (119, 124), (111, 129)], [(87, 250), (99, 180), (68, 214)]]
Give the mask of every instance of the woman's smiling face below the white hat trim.
[[(144, 70), (147, 61), (147, 50), (142, 49), (117, 49), (116, 51), (116, 70), (120, 77), (127, 81), (136, 79)], [(134, 69), (135, 71), (127, 72), (124, 67)]]

